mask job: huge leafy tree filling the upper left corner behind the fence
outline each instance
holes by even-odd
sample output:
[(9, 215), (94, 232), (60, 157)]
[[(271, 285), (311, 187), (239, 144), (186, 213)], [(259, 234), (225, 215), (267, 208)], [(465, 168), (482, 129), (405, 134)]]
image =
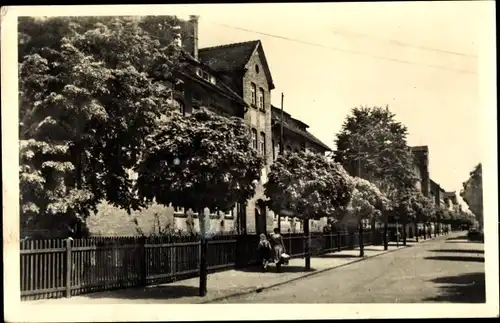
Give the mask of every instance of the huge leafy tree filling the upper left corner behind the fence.
[(141, 206), (127, 170), (168, 110), (156, 79), (179, 66), (177, 19), (158, 19), (19, 19), (22, 219)]

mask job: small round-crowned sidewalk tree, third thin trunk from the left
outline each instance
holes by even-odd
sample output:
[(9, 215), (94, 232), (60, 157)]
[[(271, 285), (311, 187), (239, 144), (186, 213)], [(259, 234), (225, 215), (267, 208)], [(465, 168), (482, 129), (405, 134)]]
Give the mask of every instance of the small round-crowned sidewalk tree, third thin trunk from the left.
[(364, 219), (380, 217), (386, 204), (385, 196), (369, 181), (354, 177), (352, 178), (353, 191), (347, 213), (352, 214), (358, 220), (360, 257), (364, 256), (363, 225)]

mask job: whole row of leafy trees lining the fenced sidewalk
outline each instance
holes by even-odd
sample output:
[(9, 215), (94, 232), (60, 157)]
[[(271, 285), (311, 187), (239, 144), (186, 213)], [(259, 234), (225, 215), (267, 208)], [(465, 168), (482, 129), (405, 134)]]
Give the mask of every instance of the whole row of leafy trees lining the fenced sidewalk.
[[(191, 208), (200, 215), (205, 295), (203, 209), (246, 203), (264, 161), (243, 120), (172, 111), (162, 80), (182, 68), (177, 26), (168, 16), (19, 20), (21, 218), (84, 220), (103, 200), (128, 212), (153, 202)], [(386, 230), (394, 212), (430, 218), (414, 189), (406, 128), (388, 109), (354, 109), (337, 148), (333, 160), (279, 156), (265, 184), (269, 207), (307, 220), (306, 234), (308, 219), (321, 217), (379, 217)], [(306, 250), (310, 268), (309, 241)]]

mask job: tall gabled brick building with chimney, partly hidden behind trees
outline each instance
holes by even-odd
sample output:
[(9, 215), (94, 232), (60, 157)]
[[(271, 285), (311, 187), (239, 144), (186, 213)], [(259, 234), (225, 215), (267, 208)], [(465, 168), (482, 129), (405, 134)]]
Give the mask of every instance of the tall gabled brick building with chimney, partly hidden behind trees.
[[(226, 44), (208, 48), (198, 46), (198, 17), (190, 16), (181, 23), (180, 45), (184, 49), (182, 64), (173, 77), (165, 80), (173, 89), (172, 100), (179, 112), (188, 115), (200, 107), (227, 116), (243, 118), (252, 131), (252, 145), (265, 159), (260, 182), (255, 195), (246, 205), (237, 205), (228, 214), (206, 209), (212, 229), (233, 231), (238, 227), (247, 232), (269, 232), (276, 225), (277, 217), (264, 201), (264, 183), (273, 160), (279, 152), (279, 123), (281, 111), (271, 106), (274, 82), (260, 40)], [(319, 153), (328, 146), (307, 131), (308, 126), (284, 113), (285, 149), (311, 149)], [(163, 216), (173, 217), (177, 229), (186, 229), (186, 212), (189, 210), (165, 207)], [(299, 221), (284, 217), (290, 228)], [(199, 230), (194, 213), (194, 230)]]

